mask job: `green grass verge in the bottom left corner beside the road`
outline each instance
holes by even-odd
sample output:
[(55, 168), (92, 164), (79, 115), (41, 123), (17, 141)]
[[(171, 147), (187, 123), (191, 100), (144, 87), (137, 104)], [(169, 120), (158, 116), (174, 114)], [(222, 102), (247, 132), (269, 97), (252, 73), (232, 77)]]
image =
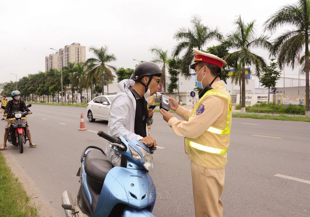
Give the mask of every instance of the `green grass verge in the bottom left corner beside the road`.
[(1, 217), (35, 217), (39, 216), (40, 207), (36, 207), (27, 196), (22, 183), (18, 181), (7, 166), (0, 153), (0, 216)]

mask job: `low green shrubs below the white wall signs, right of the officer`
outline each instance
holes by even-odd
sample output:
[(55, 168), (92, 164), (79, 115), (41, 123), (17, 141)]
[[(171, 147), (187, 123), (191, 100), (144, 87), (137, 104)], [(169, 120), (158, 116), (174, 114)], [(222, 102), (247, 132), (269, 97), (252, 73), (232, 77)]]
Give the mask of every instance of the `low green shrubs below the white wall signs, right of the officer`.
[[(235, 106), (236, 110), (241, 110), (241, 105), (237, 104)], [(254, 106), (246, 106), (246, 112), (256, 112), (256, 113), (269, 113), (272, 114), (272, 103), (261, 103), (255, 104)], [(287, 115), (305, 115), (305, 106), (304, 105), (288, 105), (282, 106), (275, 104), (274, 106), (275, 114), (287, 114)]]

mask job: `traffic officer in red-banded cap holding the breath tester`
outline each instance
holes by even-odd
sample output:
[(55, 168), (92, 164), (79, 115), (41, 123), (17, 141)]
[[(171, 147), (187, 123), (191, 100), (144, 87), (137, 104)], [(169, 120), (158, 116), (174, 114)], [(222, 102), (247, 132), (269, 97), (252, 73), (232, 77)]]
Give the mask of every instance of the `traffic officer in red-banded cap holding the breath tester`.
[(232, 120), (231, 97), (219, 78), (226, 62), (193, 48), (195, 84), (203, 89), (193, 110), (187, 110), (169, 97), (170, 109), (182, 119), (160, 109), (164, 120), (178, 136), (185, 137), (185, 152), (191, 160), (196, 216), (223, 216), (221, 195)]

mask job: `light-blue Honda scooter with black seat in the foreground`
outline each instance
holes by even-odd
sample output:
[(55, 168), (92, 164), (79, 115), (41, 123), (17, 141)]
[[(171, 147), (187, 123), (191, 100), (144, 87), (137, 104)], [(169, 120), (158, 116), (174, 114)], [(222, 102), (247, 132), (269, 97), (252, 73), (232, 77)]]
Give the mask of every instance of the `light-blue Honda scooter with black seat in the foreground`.
[(77, 199), (73, 202), (70, 192), (62, 193), (66, 216), (154, 216), (156, 187), (148, 170), (153, 169), (151, 154), (156, 148), (102, 131), (98, 135), (122, 155), (121, 166), (113, 167), (101, 148), (86, 147), (77, 174), (81, 184)]

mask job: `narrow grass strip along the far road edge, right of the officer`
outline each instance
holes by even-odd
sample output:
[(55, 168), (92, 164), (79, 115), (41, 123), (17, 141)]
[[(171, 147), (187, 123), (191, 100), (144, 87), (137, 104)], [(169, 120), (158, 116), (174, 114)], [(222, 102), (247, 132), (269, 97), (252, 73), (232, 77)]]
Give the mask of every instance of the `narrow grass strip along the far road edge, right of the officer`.
[(310, 117), (305, 116), (288, 116), (288, 115), (259, 115), (259, 114), (232, 114), (235, 118), (252, 118), (252, 119), (266, 119), (266, 120), (289, 120), (289, 121), (302, 121), (310, 122)]

